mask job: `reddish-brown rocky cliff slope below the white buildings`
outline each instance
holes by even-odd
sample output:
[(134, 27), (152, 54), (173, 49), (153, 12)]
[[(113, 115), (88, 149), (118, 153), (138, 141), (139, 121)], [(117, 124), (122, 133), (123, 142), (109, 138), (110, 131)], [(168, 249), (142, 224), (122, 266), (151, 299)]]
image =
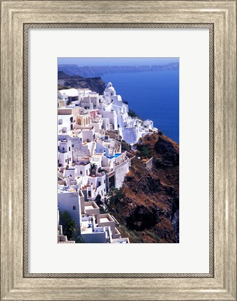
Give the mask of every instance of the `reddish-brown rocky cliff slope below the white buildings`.
[(130, 242), (178, 242), (178, 153), (178, 144), (161, 132), (139, 140), (123, 187), (108, 205)]

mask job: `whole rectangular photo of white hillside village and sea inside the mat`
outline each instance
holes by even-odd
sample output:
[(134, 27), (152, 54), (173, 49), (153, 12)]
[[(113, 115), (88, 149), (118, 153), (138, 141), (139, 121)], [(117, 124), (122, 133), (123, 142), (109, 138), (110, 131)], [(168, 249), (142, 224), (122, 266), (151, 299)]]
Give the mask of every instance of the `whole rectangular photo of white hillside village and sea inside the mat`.
[(59, 243), (178, 243), (179, 59), (59, 58), (58, 89)]

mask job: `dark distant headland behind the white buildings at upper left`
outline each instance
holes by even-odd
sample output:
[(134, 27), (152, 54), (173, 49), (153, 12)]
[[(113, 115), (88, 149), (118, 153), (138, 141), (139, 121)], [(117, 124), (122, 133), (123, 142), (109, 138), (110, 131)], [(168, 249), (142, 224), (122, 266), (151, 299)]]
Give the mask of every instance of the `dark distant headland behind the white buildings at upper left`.
[(63, 71), (58, 72), (58, 85), (59, 90), (62, 88), (89, 88), (100, 94), (105, 90), (105, 82), (100, 77), (70, 76)]

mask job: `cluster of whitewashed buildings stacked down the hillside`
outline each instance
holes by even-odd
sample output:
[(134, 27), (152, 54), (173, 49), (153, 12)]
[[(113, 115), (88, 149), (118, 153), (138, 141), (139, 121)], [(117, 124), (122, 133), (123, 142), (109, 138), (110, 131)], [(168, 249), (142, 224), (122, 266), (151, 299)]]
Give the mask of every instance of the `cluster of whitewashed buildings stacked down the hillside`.
[(95, 199), (105, 203), (130, 168), (132, 155), (121, 152), (121, 139), (132, 145), (152, 130), (153, 121), (128, 116), (128, 105), (112, 83), (103, 95), (76, 88), (58, 92), (59, 216), (70, 213), (84, 242), (129, 243)]

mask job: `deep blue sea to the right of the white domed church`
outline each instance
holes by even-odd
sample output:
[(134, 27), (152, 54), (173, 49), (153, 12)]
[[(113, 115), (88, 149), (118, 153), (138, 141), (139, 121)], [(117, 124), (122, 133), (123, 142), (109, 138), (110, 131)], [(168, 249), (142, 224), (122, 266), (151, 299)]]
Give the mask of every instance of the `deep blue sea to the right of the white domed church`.
[(116, 93), (142, 119), (153, 120), (154, 127), (179, 143), (179, 71), (107, 73)]

